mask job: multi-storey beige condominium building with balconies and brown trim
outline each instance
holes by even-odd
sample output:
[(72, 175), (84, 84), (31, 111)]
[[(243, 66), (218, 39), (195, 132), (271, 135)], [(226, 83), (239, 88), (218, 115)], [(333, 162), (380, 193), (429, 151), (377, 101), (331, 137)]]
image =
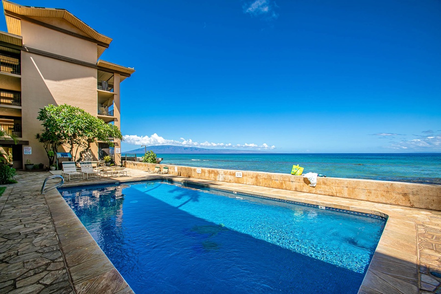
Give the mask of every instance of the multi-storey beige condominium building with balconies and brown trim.
[[(18, 144), (0, 140), (0, 146), (11, 151), (14, 167), (28, 159), (48, 164), (35, 139), (42, 129), (38, 112), (48, 104), (77, 106), (120, 127), (120, 83), (135, 71), (99, 59), (112, 39), (65, 9), (5, 0), (3, 9), (8, 32), (0, 32), (0, 128), (16, 135)], [(93, 145), (92, 160), (111, 155), (120, 164), (121, 142), (114, 144)]]

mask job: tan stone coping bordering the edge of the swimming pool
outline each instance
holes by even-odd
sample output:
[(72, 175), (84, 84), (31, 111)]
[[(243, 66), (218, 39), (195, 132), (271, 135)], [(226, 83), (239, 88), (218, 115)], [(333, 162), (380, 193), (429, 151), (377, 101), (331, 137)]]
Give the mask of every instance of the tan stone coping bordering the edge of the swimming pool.
[[(187, 182), (227, 191), (327, 206), (388, 218), (359, 293), (419, 293), (420, 288), (425, 286), (425, 282), (421, 281), (421, 277), (424, 278), (424, 275), (429, 276), (429, 266), (420, 263), (417, 237), (418, 221), (412, 220), (412, 218), (405, 215), (415, 214), (417, 216), (424, 216), (435, 214), (436, 217), (441, 216), (441, 214), (433, 211), (172, 175), (146, 174), (145, 177), (137, 179), (122, 178), (102, 182), (77, 182), (63, 185), (63, 187), (129, 183), (155, 179)], [(46, 199), (55, 230), (60, 239), (61, 250), (66, 257), (67, 267), (77, 293), (87, 293), (91, 285), (107, 287), (106, 289), (113, 287), (113, 292), (109, 293), (133, 293), (61, 194), (56, 190), (52, 190), (46, 194)], [(340, 204), (332, 202), (340, 202)], [(75, 262), (74, 265), (73, 262)], [(70, 265), (73, 266), (71, 267)], [(430, 266), (431, 270), (439, 271), (440, 268), (441, 266), (436, 264), (435, 267), (434, 265)], [(81, 273), (78, 271), (81, 271)], [(423, 272), (420, 273), (420, 271)]]

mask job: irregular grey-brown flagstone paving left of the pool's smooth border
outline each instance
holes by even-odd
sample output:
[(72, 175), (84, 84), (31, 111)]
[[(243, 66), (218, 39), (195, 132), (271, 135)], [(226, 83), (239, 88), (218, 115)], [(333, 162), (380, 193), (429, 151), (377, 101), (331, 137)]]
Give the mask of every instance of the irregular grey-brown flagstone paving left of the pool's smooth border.
[(45, 197), (17, 179), (0, 197), (0, 293), (74, 293)]

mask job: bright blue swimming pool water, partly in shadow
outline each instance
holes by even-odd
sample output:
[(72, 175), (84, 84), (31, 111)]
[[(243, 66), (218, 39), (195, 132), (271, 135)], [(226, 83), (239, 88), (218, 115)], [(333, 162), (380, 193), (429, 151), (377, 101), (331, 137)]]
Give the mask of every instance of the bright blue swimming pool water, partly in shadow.
[(164, 181), (60, 189), (135, 293), (357, 293), (385, 220)]

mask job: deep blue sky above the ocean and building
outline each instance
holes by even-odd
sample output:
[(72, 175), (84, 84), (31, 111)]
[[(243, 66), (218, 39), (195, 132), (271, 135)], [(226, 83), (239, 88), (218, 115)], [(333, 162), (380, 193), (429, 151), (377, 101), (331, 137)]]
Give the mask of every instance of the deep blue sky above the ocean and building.
[(17, 2), (69, 10), (135, 68), (123, 151), (441, 151), (439, 0)]

